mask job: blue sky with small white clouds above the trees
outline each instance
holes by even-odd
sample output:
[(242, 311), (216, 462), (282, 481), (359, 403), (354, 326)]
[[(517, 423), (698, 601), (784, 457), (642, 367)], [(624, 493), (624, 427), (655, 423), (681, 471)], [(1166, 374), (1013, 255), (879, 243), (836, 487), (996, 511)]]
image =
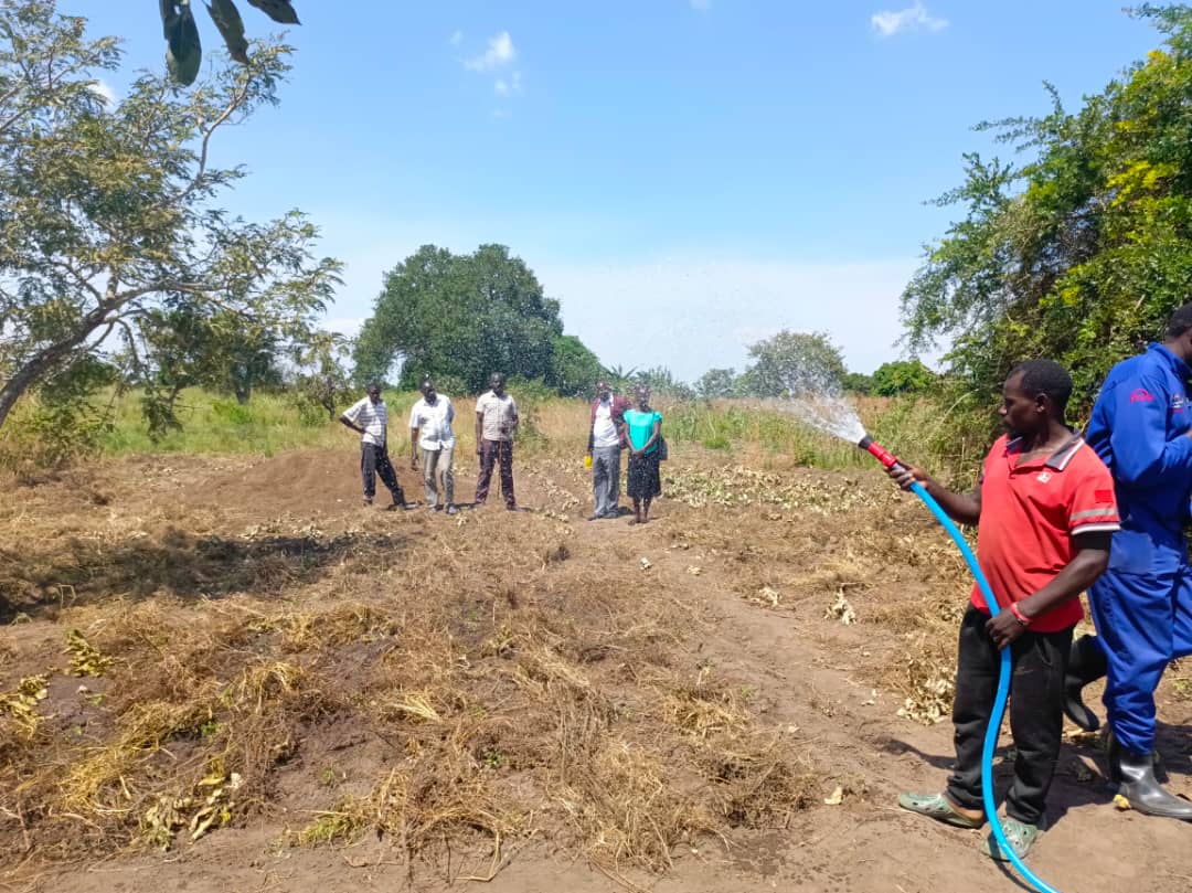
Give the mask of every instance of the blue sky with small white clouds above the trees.
[[(991, 151), (971, 125), (1044, 113), (1044, 80), (1074, 107), (1157, 45), (1122, 5), (297, 0), (280, 107), (215, 159), (252, 170), (231, 207), (300, 207), (346, 261), (333, 328), (420, 244), (501, 242), (606, 365), (694, 379), (789, 328), (868, 372), (957, 212), (924, 201)], [(60, 0), (124, 36), (129, 69), (163, 64), (154, 6)]]

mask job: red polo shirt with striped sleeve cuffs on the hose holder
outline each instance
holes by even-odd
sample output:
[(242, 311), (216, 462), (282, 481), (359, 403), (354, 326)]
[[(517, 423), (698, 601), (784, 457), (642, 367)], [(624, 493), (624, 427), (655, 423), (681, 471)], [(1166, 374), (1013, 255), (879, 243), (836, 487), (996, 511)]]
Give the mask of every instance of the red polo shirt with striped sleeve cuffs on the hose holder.
[[(1100, 458), (1074, 436), (1047, 459), (1020, 465), (1022, 440), (1002, 436), (981, 473), (977, 562), (1002, 607), (1035, 595), (1072, 560), (1073, 537), (1118, 529), (1113, 478)], [(973, 587), (973, 604), (988, 614)], [(1085, 615), (1072, 599), (1031, 621), (1037, 632), (1058, 632)]]

